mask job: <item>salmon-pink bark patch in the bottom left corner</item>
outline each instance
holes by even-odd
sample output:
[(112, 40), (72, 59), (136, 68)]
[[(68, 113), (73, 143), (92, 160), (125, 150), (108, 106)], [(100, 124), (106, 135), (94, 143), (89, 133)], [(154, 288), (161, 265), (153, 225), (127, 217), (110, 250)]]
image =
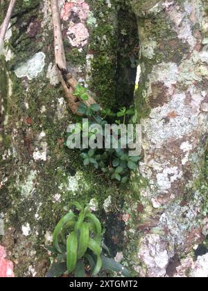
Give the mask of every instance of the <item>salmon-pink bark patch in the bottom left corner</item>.
[(6, 260), (6, 249), (0, 245), (0, 278), (14, 277), (13, 267), (13, 263)]

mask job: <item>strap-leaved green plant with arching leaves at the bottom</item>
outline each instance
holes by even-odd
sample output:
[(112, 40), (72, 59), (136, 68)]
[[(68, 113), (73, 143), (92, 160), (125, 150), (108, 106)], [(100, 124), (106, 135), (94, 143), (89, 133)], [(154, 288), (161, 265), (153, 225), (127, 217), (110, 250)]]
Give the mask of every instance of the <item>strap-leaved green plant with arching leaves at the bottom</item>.
[(96, 276), (101, 268), (130, 276), (121, 264), (103, 253), (109, 253), (109, 249), (103, 243), (101, 222), (90, 212), (90, 205), (73, 202), (73, 206), (76, 211), (64, 215), (53, 231), (53, 247), (46, 247), (56, 256), (46, 276), (85, 277), (86, 272)]

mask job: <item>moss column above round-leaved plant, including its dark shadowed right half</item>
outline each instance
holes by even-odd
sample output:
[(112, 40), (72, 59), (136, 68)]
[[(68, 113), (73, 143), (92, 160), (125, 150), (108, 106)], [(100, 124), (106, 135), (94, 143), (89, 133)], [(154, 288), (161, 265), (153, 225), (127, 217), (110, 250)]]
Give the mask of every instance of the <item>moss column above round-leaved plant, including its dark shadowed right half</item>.
[[(89, 51), (93, 53), (90, 87), (103, 107), (112, 109), (133, 103), (139, 40), (135, 15), (126, 1), (88, 1), (98, 26), (90, 28)], [(115, 17), (117, 15), (117, 18)]]

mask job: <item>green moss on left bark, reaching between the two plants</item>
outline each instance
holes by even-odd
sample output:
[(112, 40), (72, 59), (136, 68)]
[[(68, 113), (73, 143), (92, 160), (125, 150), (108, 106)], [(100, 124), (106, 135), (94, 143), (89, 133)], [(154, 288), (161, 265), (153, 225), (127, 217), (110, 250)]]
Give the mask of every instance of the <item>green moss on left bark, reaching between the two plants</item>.
[[(28, 89), (14, 74), (12, 82), (13, 94), (8, 100), (9, 120), (6, 131), (10, 132), (9, 145), (17, 152), (18, 159), (11, 156), (3, 168), (8, 183), (0, 189), (0, 204), (1, 211), (6, 213), (8, 218), (9, 227), (14, 227), (21, 233), (22, 225), (29, 223), (33, 233), (38, 233), (36, 236), (33, 234), (32, 249), (36, 244), (44, 245), (45, 231), (53, 231), (60, 217), (66, 213), (65, 207), (69, 202), (78, 200), (87, 203), (96, 198), (100, 209), (98, 215), (104, 222), (102, 215), (104, 200), (112, 195), (113, 203), (119, 207), (125, 195), (125, 188), (121, 189), (116, 183), (98, 175), (94, 168), (88, 167), (86, 171), (80, 159), (80, 152), (63, 147), (62, 139), (67, 125), (76, 118), (66, 112), (65, 118), (57, 119), (57, 101), (64, 96), (62, 89), (52, 87), (47, 80), (42, 80), (41, 76), (29, 82)], [(26, 103), (28, 109), (25, 107)], [(41, 114), (40, 109), (43, 105), (46, 112)], [(28, 118), (31, 118), (29, 123)], [(15, 136), (13, 130), (17, 132)], [(40, 147), (37, 136), (42, 130), (46, 133), (47, 160), (34, 162), (31, 153), (36, 146)], [(24, 142), (25, 138), (28, 142)], [(36, 173), (30, 186), (33, 191), (25, 195), (31, 170)], [(76, 172), (82, 173), (83, 182), (82, 180), (79, 182), (78, 191), (68, 191), (68, 179)], [(57, 193), (61, 195), (60, 203), (54, 202)], [(38, 220), (35, 219), (36, 213), (39, 215)], [(20, 245), (18, 247), (22, 253), (23, 249)], [(42, 249), (37, 247), (36, 256), (42, 259), (42, 252)], [(32, 263), (33, 256), (17, 267), (16, 274), (22, 276)]]

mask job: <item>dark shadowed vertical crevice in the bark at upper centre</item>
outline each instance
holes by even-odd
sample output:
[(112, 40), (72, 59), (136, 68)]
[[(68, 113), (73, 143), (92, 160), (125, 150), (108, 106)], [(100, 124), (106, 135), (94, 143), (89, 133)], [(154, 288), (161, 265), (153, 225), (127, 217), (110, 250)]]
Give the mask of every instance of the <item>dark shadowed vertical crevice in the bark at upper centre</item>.
[(118, 106), (129, 107), (134, 102), (135, 80), (139, 60), (137, 19), (128, 4), (118, 11), (119, 50), (116, 69), (116, 100)]

